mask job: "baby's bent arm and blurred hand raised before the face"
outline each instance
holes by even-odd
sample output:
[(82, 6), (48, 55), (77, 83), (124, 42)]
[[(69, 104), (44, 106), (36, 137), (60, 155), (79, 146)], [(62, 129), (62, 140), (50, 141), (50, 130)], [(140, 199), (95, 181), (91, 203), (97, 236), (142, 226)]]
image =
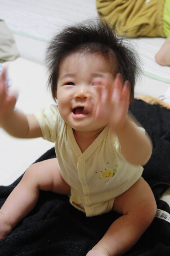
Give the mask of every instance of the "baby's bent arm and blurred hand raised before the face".
[(110, 74), (102, 79), (100, 98), (96, 109), (97, 118), (105, 118), (117, 134), (123, 156), (135, 165), (144, 165), (152, 153), (152, 143), (147, 133), (137, 127), (129, 115), (130, 83), (122, 76)]

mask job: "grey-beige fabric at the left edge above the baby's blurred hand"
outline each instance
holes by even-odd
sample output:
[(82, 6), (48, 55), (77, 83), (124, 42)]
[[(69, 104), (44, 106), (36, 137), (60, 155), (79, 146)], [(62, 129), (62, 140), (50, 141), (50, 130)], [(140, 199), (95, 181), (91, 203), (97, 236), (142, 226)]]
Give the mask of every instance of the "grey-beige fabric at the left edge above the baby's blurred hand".
[(15, 60), (19, 52), (15, 40), (5, 21), (0, 19), (0, 62)]

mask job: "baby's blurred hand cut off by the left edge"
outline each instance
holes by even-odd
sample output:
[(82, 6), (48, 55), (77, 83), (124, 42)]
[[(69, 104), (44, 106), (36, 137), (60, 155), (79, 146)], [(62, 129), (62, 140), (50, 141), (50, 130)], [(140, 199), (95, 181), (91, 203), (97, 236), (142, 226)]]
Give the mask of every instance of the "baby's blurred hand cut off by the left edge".
[(0, 120), (14, 110), (16, 102), (17, 96), (7, 93), (6, 70), (3, 69), (0, 76)]

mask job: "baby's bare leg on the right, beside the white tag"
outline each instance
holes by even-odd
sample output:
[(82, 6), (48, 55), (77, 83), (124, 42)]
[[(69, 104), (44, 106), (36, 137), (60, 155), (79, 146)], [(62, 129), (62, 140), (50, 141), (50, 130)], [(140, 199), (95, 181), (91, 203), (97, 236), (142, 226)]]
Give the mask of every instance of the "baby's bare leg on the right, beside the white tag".
[(113, 210), (123, 215), (112, 223), (87, 256), (123, 255), (149, 227), (156, 208), (148, 183), (140, 178), (130, 189), (115, 198)]

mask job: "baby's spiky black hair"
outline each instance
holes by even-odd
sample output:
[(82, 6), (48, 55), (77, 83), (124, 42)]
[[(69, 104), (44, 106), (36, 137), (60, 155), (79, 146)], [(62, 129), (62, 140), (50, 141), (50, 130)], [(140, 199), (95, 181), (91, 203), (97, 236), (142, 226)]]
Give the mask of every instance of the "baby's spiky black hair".
[(61, 61), (74, 52), (99, 53), (113, 58), (116, 63), (113, 74), (121, 73), (123, 80), (131, 84), (131, 95), (134, 97), (134, 86), (139, 74), (137, 54), (123, 43), (110, 26), (101, 20), (88, 20), (64, 28), (55, 35), (46, 51), (46, 63), (49, 71), (49, 86), (55, 100), (55, 91)]

